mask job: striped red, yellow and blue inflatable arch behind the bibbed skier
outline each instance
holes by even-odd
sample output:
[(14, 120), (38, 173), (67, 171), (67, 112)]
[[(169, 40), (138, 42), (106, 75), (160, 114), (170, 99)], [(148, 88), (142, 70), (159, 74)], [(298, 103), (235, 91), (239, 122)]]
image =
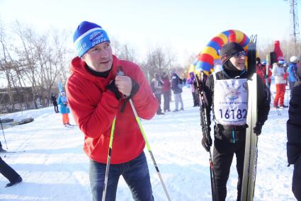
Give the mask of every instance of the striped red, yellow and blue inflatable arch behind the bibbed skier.
[(240, 30), (225, 30), (210, 40), (208, 45), (198, 54), (188, 71), (199, 74), (203, 70), (205, 74), (209, 75), (212, 73), (215, 64), (220, 64), (219, 51), (222, 45), (227, 42), (237, 42), (244, 47), (244, 50), (248, 50), (249, 41), (249, 38)]

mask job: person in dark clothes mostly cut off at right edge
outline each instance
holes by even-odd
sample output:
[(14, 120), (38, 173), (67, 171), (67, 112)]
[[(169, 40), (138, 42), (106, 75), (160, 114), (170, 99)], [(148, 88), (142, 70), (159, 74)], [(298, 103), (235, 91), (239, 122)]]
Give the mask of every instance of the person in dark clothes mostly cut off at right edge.
[(301, 200), (301, 69), (298, 67), (297, 76), (299, 81), (295, 82), (288, 108), (287, 125), (287, 155), (288, 164), (294, 165), (292, 190), (297, 198)]

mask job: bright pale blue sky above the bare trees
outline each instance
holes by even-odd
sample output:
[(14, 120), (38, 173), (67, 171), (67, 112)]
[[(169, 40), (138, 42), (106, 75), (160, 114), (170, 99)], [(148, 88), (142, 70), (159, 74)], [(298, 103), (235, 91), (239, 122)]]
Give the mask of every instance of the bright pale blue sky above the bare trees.
[(54, 27), (72, 33), (81, 21), (91, 21), (109, 36), (137, 48), (141, 57), (149, 48), (163, 46), (175, 52), (180, 62), (193, 52), (198, 54), (224, 30), (257, 34), (259, 43), (290, 35), (290, 6), (283, 0), (0, 0), (0, 19), (5, 24), (18, 19), (37, 30)]

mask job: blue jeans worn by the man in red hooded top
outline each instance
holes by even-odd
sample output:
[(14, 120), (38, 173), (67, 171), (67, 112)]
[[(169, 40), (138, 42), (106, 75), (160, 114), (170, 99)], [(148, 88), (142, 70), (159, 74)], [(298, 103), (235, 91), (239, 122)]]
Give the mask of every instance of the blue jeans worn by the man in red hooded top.
[[(90, 160), (90, 185), (94, 201), (102, 199), (106, 164)], [(154, 200), (149, 169), (144, 152), (127, 163), (111, 164), (108, 173), (106, 201), (116, 199), (117, 185), (120, 175), (130, 187), (134, 200)]]

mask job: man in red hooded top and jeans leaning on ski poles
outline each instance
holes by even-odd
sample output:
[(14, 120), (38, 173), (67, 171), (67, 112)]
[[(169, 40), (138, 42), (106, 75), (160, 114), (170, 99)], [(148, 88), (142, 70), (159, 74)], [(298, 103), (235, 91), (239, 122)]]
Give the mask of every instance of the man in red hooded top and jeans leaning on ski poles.
[[(102, 198), (114, 117), (106, 200), (115, 200), (121, 175), (135, 200), (153, 200), (145, 143), (128, 99), (132, 99), (139, 117), (147, 120), (154, 117), (159, 103), (140, 67), (113, 55), (108, 35), (100, 25), (80, 23), (73, 40), (78, 57), (71, 62), (67, 97), (74, 120), (84, 132), (93, 200)], [(117, 75), (121, 69), (124, 76)]]

